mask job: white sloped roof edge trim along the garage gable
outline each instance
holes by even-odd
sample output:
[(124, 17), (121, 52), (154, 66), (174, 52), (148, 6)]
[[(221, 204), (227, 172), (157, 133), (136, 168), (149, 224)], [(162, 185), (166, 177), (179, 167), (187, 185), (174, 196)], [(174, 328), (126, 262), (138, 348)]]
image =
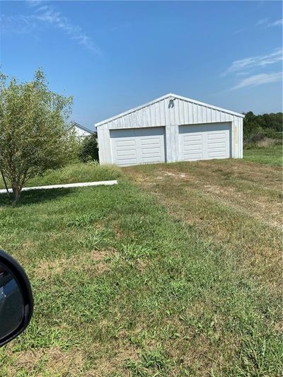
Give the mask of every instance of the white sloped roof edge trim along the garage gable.
[(191, 98), (186, 98), (186, 97), (183, 97), (182, 95), (178, 95), (178, 94), (174, 94), (174, 93), (168, 93), (166, 95), (163, 95), (162, 97), (156, 98), (155, 100), (151, 100), (150, 102), (145, 103), (144, 105), (137, 106), (137, 108), (133, 108), (133, 109), (127, 110), (125, 112), (121, 112), (120, 114), (115, 115), (114, 117), (110, 117), (110, 118), (105, 119), (105, 120), (103, 120), (101, 122), (98, 122), (98, 123), (95, 124), (95, 126), (99, 127), (102, 124), (105, 124), (107, 122), (110, 122), (110, 121), (115, 120), (115, 119), (120, 118), (120, 117), (124, 117), (125, 115), (128, 115), (131, 112), (134, 112), (134, 111), (137, 111), (137, 110), (141, 110), (142, 108), (146, 108), (146, 106), (152, 105), (153, 103), (156, 103), (158, 101), (164, 100), (166, 98), (170, 98), (172, 100), (174, 98), (178, 98), (179, 100), (185, 100), (185, 101), (190, 102), (190, 103), (195, 103), (196, 105), (202, 105), (202, 106), (205, 106), (207, 108), (211, 108), (211, 109), (214, 109), (214, 110), (219, 110), (221, 112), (226, 112), (227, 114), (236, 115), (237, 117), (245, 117), (245, 115), (240, 114), (239, 112), (234, 112), (234, 111), (227, 110), (227, 109), (224, 109), (224, 108), (218, 108), (217, 106), (209, 105), (208, 103), (203, 103), (203, 102), (200, 102), (200, 101), (197, 101), (197, 100), (192, 100)]

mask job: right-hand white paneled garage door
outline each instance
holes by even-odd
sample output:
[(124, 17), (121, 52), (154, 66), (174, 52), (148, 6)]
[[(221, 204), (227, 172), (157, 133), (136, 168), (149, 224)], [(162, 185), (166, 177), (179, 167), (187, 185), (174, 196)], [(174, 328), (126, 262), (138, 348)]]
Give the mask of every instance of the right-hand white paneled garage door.
[(230, 124), (179, 126), (180, 160), (209, 160), (230, 157)]

